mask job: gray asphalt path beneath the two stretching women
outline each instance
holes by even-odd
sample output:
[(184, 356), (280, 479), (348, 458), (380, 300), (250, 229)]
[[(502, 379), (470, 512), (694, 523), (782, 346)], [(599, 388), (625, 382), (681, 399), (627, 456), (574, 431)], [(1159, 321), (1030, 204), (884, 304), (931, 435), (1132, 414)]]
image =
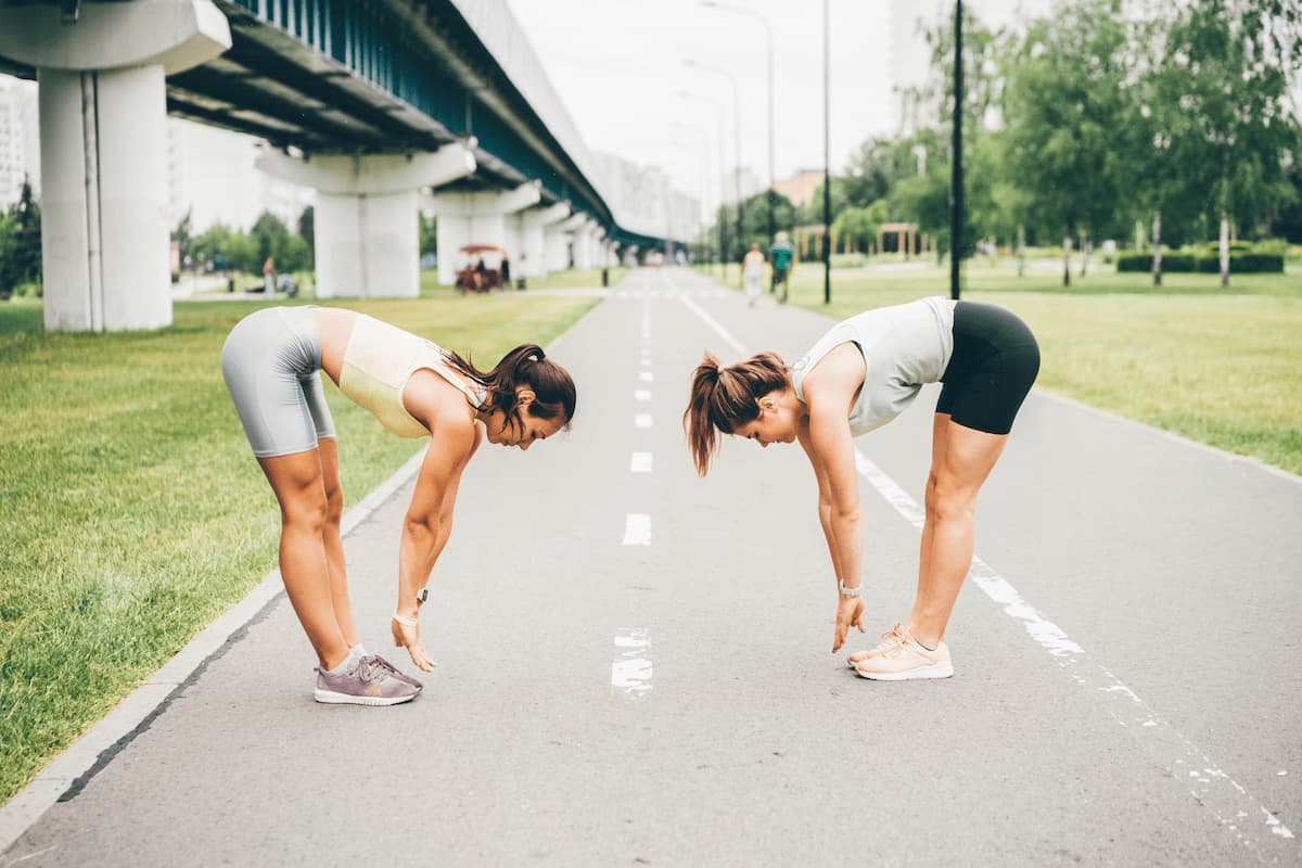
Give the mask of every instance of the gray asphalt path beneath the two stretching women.
[[(793, 359), (829, 324), (631, 273), (551, 350), (573, 431), (466, 472), (419, 699), (315, 704), (281, 596), (0, 864), (1302, 864), (1302, 484), (1035, 392), (954, 678), (858, 679), (799, 448), (699, 480), (680, 422), (703, 349)], [(857, 441), (876, 630), (935, 400)], [(381, 653), (409, 496), (346, 540)]]

